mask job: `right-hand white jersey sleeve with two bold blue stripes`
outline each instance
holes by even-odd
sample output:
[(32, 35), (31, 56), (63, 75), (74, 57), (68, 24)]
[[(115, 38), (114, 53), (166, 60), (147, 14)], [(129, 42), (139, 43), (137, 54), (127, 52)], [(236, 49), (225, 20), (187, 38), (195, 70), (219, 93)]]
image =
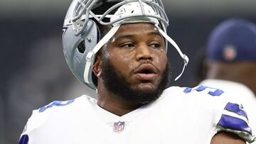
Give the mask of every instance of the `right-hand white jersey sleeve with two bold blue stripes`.
[(221, 109), (217, 115), (215, 133), (218, 133), (218, 131), (235, 133), (248, 143), (256, 140), (255, 135), (252, 135), (247, 113), (242, 104), (228, 102), (225, 104), (224, 109)]

